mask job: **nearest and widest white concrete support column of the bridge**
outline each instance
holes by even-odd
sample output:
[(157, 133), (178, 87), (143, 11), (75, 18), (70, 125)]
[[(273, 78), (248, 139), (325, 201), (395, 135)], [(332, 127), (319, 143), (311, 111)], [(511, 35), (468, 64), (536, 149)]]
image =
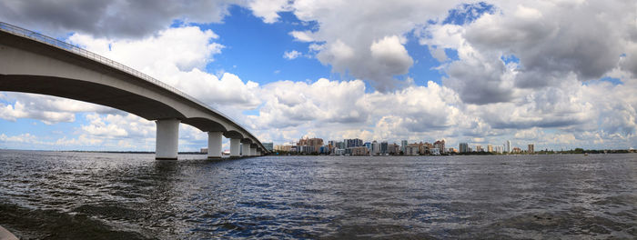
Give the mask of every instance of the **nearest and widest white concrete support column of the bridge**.
[(178, 119), (157, 120), (157, 135), (155, 143), (155, 159), (177, 160), (177, 145), (179, 145)]

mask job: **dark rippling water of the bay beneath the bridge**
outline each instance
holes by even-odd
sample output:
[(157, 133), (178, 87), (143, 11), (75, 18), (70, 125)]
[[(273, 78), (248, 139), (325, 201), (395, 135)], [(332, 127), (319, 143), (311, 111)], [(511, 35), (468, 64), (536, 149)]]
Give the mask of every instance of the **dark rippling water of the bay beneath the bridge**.
[(179, 157), (0, 151), (0, 225), (21, 239), (637, 237), (637, 155)]

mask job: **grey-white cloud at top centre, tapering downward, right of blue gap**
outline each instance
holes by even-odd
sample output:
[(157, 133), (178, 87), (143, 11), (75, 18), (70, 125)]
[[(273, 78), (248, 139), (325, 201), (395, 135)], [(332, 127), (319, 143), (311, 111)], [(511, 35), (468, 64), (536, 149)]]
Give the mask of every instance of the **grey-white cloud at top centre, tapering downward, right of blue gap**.
[[(364, 5), (365, 11), (359, 11)], [(316, 31), (293, 31), (298, 41), (312, 42), (310, 50), (333, 71), (369, 80), (379, 91), (398, 87), (413, 60), (403, 35), (427, 25), (457, 5), (454, 1), (295, 1), (289, 8), (298, 19), (318, 23)], [(371, 61), (370, 61), (371, 60)]]

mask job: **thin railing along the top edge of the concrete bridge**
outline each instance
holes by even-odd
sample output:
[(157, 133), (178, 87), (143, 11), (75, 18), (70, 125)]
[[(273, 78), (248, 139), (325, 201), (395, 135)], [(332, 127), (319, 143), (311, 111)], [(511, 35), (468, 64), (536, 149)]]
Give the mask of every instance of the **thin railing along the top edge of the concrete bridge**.
[[(0, 22), (0, 30), (4, 31), (4, 32), (7, 32), (7, 33), (10, 33), (10, 34), (13, 34), (13, 35), (24, 36), (26, 38), (35, 40), (35, 41), (43, 43), (45, 45), (52, 45), (52, 46), (55, 46), (57, 48), (64, 49), (66, 51), (72, 52), (72, 53), (74, 53), (76, 55), (82, 55), (82, 56), (84, 56), (86, 58), (89, 58), (89, 59), (94, 60), (96, 62), (99, 62), (101, 64), (112, 66), (112, 67), (116, 68), (117, 70), (123, 71), (123, 72), (125, 72), (125, 73), (127, 73), (129, 75), (135, 75), (136, 77), (144, 79), (144, 80), (146, 80), (146, 81), (148, 81), (150, 83), (153, 83), (155, 85), (159, 85), (159, 86), (161, 86), (161, 87), (167, 89), (168, 91), (171, 91), (171, 92), (173, 92), (173, 93), (175, 93), (177, 95), (181, 95), (181, 96), (187, 98), (188, 100), (197, 103), (198, 105), (203, 105), (204, 107), (206, 107), (207, 109), (213, 111), (217, 115), (222, 115), (223, 117), (227, 118), (227, 120), (230, 120), (233, 123), (237, 123), (237, 121), (233, 120), (229, 116), (218, 112), (216, 109), (214, 109), (214, 108), (208, 106), (207, 104), (197, 100), (197, 98), (195, 98), (195, 97), (193, 97), (191, 95), (187, 95), (184, 92), (181, 92), (176, 87), (174, 87), (172, 85), (167, 85), (166, 83), (164, 83), (162, 81), (159, 81), (159, 80), (155, 79), (152, 76), (145, 75), (142, 72), (139, 72), (139, 71), (133, 69), (130, 66), (120, 64), (120, 63), (118, 63), (116, 61), (113, 61), (111, 59), (106, 58), (105, 56), (97, 55), (96, 53), (88, 51), (88, 50), (86, 50), (86, 49), (84, 49), (82, 47), (79, 47), (79, 46), (76, 46), (76, 45), (71, 45), (71, 44), (68, 44), (68, 43), (66, 43), (64, 41), (58, 40), (56, 38), (53, 38), (53, 37), (50, 37), (50, 36), (47, 36), (47, 35), (43, 35), (43, 34), (40, 34), (40, 33), (36, 33), (34, 31), (31, 31), (31, 30), (28, 30), (28, 29), (25, 29), (25, 28), (22, 28), (22, 27), (19, 27), (19, 26), (16, 26), (16, 25), (10, 25), (10, 24), (7, 24), (5, 22)], [(242, 127), (240, 127), (240, 128), (242, 128)], [(248, 132), (248, 130), (245, 130), (245, 129), (243, 129), (243, 130)], [(248, 134), (249, 134), (249, 132), (248, 132)], [(250, 134), (250, 135), (252, 135), (252, 134)], [(254, 137), (254, 135), (253, 135), (253, 137)]]

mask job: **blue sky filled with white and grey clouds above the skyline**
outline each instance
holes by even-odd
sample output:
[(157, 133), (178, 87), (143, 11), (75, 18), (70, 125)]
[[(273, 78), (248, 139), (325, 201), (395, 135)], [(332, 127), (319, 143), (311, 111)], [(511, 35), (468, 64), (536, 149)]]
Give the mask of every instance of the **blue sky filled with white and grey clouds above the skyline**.
[[(0, 21), (151, 75), (275, 145), (637, 147), (634, 1), (8, 0)], [(154, 151), (155, 128), (0, 92), (0, 149)], [(205, 146), (180, 125), (180, 151)]]

